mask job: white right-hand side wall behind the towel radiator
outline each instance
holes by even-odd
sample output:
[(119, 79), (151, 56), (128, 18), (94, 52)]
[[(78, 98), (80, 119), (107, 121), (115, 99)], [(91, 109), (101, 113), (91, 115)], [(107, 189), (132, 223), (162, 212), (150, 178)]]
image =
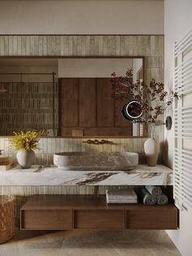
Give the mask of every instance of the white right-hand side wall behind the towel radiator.
[[(191, 0), (165, 0), (165, 85), (173, 88), (173, 46), (192, 29), (192, 2)], [(168, 109), (172, 115), (172, 108)], [(167, 162), (173, 164), (173, 130), (165, 130), (165, 141), (168, 144)], [(182, 256), (190, 256), (192, 251), (192, 210), (180, 211), (180, 228), (177, 231), (168, 231)]]

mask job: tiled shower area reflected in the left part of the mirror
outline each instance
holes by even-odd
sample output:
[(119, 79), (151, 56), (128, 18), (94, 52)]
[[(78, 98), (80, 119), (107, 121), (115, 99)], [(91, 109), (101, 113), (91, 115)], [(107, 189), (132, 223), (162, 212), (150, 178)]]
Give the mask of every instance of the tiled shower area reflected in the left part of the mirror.
[[(47, 130), (54, 135), (58, 111), (57, 60), (1, 59), (0, 135), (20, 130)], [(55, 121), (54, 121), (55, 120)], [(55, 123), (55, 126), (53, 124)]]

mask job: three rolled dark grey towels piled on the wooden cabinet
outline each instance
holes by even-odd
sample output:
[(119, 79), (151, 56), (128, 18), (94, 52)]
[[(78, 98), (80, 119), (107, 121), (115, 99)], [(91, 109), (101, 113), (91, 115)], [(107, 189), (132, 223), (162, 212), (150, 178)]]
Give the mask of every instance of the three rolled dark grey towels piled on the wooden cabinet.
[(141, 196), (144, 205), (168, 204), (168, 196), (166, 196), (158, 186), (146, 186), (142, 188)]

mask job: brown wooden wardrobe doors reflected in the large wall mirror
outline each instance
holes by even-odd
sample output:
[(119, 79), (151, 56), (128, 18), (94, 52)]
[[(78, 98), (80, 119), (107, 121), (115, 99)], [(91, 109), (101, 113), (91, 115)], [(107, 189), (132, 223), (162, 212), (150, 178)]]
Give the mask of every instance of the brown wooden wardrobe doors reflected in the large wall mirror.
[[(125, 101), (111, 97), (111, 78), (59, 78), (59, 135), (132, 136), (121, 110)], [(126, 100), (127, 102), (127, 100)]]

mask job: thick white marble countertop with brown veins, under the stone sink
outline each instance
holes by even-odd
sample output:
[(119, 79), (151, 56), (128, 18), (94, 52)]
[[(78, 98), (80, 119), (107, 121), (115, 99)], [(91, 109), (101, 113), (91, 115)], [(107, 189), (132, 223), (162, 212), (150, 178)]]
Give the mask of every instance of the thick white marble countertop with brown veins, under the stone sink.
[(138, 165), (129, 171), (59, 170), (55, 166), (32, 166), (0, 171), (0, 186), (120, 186), (172, 185), (172, 169)]

